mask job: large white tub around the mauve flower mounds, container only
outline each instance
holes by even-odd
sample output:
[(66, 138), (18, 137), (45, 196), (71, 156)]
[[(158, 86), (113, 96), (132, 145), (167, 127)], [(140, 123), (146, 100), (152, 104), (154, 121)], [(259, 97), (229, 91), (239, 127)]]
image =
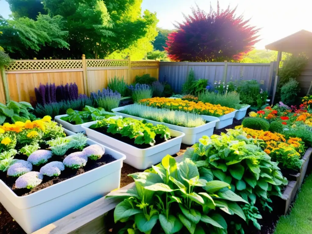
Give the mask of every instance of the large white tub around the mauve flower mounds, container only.
[[(87, 143), (99, 144), (91, 139)], [(17, 196), (0, 180), (0, 202), (27, 234), (45, 227), (119, 188), (126, 156), (106, 146), (105, 153), (117, 160), (27, 196)]]

